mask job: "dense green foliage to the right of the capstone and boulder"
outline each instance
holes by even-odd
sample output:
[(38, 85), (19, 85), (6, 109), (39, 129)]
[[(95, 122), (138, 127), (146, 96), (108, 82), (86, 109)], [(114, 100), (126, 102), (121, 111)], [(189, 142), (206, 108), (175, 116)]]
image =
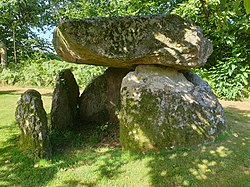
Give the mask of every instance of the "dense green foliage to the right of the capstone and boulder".
[(173, 11), (193, 20), (212, 41), (213, 54), (205, 67), (196, 71), (211, 83), (220, 98), (227, 100), (249, 97), (250, 18), (243, 3), (237, 2), (207, 1), (208, 17), (196, 0), (179, 4)]

